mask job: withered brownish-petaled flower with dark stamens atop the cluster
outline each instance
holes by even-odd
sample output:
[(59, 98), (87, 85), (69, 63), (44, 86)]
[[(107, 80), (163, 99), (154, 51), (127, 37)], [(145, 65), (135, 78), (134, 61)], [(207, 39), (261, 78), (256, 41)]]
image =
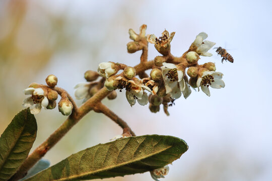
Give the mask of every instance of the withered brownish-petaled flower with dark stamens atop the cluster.
[(166, 47), (167, 47), (167, 44), (168, 44), (168, 43), (170, 44), (170, 42), (172, 41), (174, 35), (175, 35), (175, 32), (172, 32), (172, 33), (170, 34), (170, 36), (169, 36), (169, 32), (166, 31), (166, 30), (164, 30), (164, 31), (162, 32), (162, 36), (159, 37), (159, 38), (157, 38), (154, 34), (152, 34), (152, 35), (147, 35), (147, 41), (148, 41), (149, 43), (155, 44), (155, 46), (156, 46), (156, 45), (157, 45), (157, 46), (159, 45), (159, 46), (163, 46), (163, 47), (166, 48)]

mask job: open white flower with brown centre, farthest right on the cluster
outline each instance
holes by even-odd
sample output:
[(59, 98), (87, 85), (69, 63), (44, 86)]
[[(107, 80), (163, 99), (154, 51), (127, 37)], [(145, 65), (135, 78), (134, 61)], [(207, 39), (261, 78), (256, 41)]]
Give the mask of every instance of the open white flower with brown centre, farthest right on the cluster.
[(223, 73), (216, 71), (204, 71), (201, 77), (197, 78), (196, 86), (199, 91), (199, 86), (201, 90), (207, 95), (211, 96), (209, 86), (213, 88), (224, 88), (225, 83), (222, 80)]

